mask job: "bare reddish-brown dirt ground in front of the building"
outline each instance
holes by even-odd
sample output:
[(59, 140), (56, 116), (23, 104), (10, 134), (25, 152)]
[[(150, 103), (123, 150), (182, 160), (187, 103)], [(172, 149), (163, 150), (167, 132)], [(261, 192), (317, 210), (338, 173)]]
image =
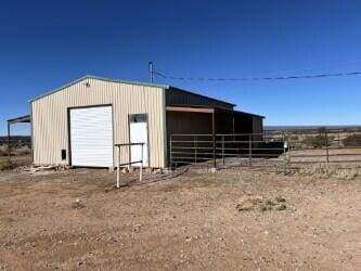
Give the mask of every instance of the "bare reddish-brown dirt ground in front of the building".
[[(361, 179), (234, 168), (114, 183), (0, 172), (0, 270), (361, 270)], [(286, 209), (238, 211), (247, 196)]]

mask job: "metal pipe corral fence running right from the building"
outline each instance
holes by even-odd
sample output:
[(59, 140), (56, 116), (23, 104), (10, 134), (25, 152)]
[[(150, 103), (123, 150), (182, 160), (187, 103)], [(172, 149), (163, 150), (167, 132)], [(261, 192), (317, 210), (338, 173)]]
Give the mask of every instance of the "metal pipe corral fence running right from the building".
[(353, 164), (361, 167), (361, 129), (171, 134), (170, 165), (272, 167)]

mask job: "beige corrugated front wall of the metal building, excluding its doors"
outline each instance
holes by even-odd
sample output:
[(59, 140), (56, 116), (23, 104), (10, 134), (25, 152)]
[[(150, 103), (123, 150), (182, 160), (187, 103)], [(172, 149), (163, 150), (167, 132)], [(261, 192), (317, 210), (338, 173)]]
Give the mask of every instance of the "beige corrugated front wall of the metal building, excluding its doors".
[[(31, 102), (34, 163), (68, 164), (67, 108), (101, 104), (113, 105), (114, 143), (129, 142), (128, 114), (149, 114), (150, 166), (165, 167), (165, 90), (94, 78), (83, 79)], [(65, 162), (61, 159), (62, 149), (67, 150)], [(116, 156), (114, 150), (115, 164)], [(125, 149), (121, 163), (128, 162), (128, 157)]]

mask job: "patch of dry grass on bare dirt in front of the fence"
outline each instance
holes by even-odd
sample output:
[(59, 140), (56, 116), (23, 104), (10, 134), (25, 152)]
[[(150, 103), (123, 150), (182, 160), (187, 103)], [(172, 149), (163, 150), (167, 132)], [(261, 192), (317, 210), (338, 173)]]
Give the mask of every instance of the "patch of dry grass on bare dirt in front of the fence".
[(276, 196), (274, 199), (266, 198), (262, 196), (246, 196), (241, 198), (240, 203), (235, 206), (238, 211), (267, 211), (267, 210), (285, 210), (286, 199), (282, 196)]

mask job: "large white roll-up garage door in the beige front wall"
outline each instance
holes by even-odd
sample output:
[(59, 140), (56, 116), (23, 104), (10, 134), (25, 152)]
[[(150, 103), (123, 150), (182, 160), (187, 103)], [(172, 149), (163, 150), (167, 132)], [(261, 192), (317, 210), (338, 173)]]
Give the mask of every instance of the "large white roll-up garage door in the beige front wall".
[(72, 108), (72, 165), (113, 167), (112, 106)]

